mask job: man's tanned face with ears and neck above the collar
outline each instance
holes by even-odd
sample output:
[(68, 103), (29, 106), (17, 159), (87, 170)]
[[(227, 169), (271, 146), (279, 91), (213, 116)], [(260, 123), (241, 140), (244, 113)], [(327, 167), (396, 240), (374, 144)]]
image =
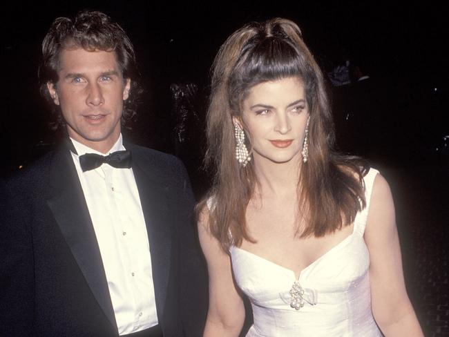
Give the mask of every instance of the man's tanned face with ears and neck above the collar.
[(123, 101), (131, 86), (130, 79), (122, 77), (115, 52), (64, 49), (58, 75), (57, 84), (47, 86), (61, 107), (68, 135), (107, 153), (120, 135)]

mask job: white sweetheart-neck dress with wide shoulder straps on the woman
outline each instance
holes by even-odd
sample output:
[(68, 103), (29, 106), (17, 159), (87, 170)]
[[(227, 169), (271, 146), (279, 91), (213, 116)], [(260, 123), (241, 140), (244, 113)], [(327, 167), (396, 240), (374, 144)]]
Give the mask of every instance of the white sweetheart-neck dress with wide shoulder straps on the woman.
[[(231, 247), (236, 282), (253, 308), (247, 337), (383, 336), (372, 316), (370, 256), (363, 240), (377, 173), (371, 168), (364, 177), (367, 206), (357, 213), (353, 233), (303, 269), (297, 280), (294, 271)], [(294, 298), (303, 307), (292, 307)]]

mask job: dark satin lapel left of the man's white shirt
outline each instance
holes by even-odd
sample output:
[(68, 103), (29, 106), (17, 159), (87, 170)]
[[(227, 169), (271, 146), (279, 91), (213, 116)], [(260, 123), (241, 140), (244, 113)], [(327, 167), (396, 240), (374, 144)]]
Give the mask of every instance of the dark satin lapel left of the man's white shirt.
[(117, 329), (97, 238), (75, 165), (66, 146), (55, 155), (50, 195), (47, 203), (59, 229), (99, 306)]

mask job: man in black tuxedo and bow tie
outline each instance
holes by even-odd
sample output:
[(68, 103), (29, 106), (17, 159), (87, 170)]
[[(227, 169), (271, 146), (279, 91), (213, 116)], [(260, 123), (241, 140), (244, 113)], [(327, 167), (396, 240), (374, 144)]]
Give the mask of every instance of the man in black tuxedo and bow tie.
[(122, 141), (140, 90), (126, 33), (81, 12), (52, 23), (42, 52), (41, 91), (68, 137), (6, 183), (0, 336), (200, 336), (206, 273), (184, 166)]

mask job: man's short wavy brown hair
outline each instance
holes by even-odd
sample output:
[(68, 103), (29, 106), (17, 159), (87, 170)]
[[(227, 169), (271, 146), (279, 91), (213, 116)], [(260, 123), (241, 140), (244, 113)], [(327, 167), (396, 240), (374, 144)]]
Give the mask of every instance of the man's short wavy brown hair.
[[(50, 104), (52, 99), (48, 93), (47, 83), (57, 84), (59, 70), (59, 54), (64, 48), (83, 48), (85, 50), (114, 51), (124, 79), (131, 79), (130, 95), (124, 101), (122, 125), (129, 124), (137, 115), (137, 105), (140, 102), (142, 88), (140, 73), (135, 61), (133, 44), (126, 32), (108, 15), (91, 10), (83, 10), (70, 19), (58, 17), (53, 21), (44, 41), (42, 41), (42, 59), (39, 64), (39, 87), (41, 95)], [(55, 108), (57, 125), (64, 122), (59, 106)]]

